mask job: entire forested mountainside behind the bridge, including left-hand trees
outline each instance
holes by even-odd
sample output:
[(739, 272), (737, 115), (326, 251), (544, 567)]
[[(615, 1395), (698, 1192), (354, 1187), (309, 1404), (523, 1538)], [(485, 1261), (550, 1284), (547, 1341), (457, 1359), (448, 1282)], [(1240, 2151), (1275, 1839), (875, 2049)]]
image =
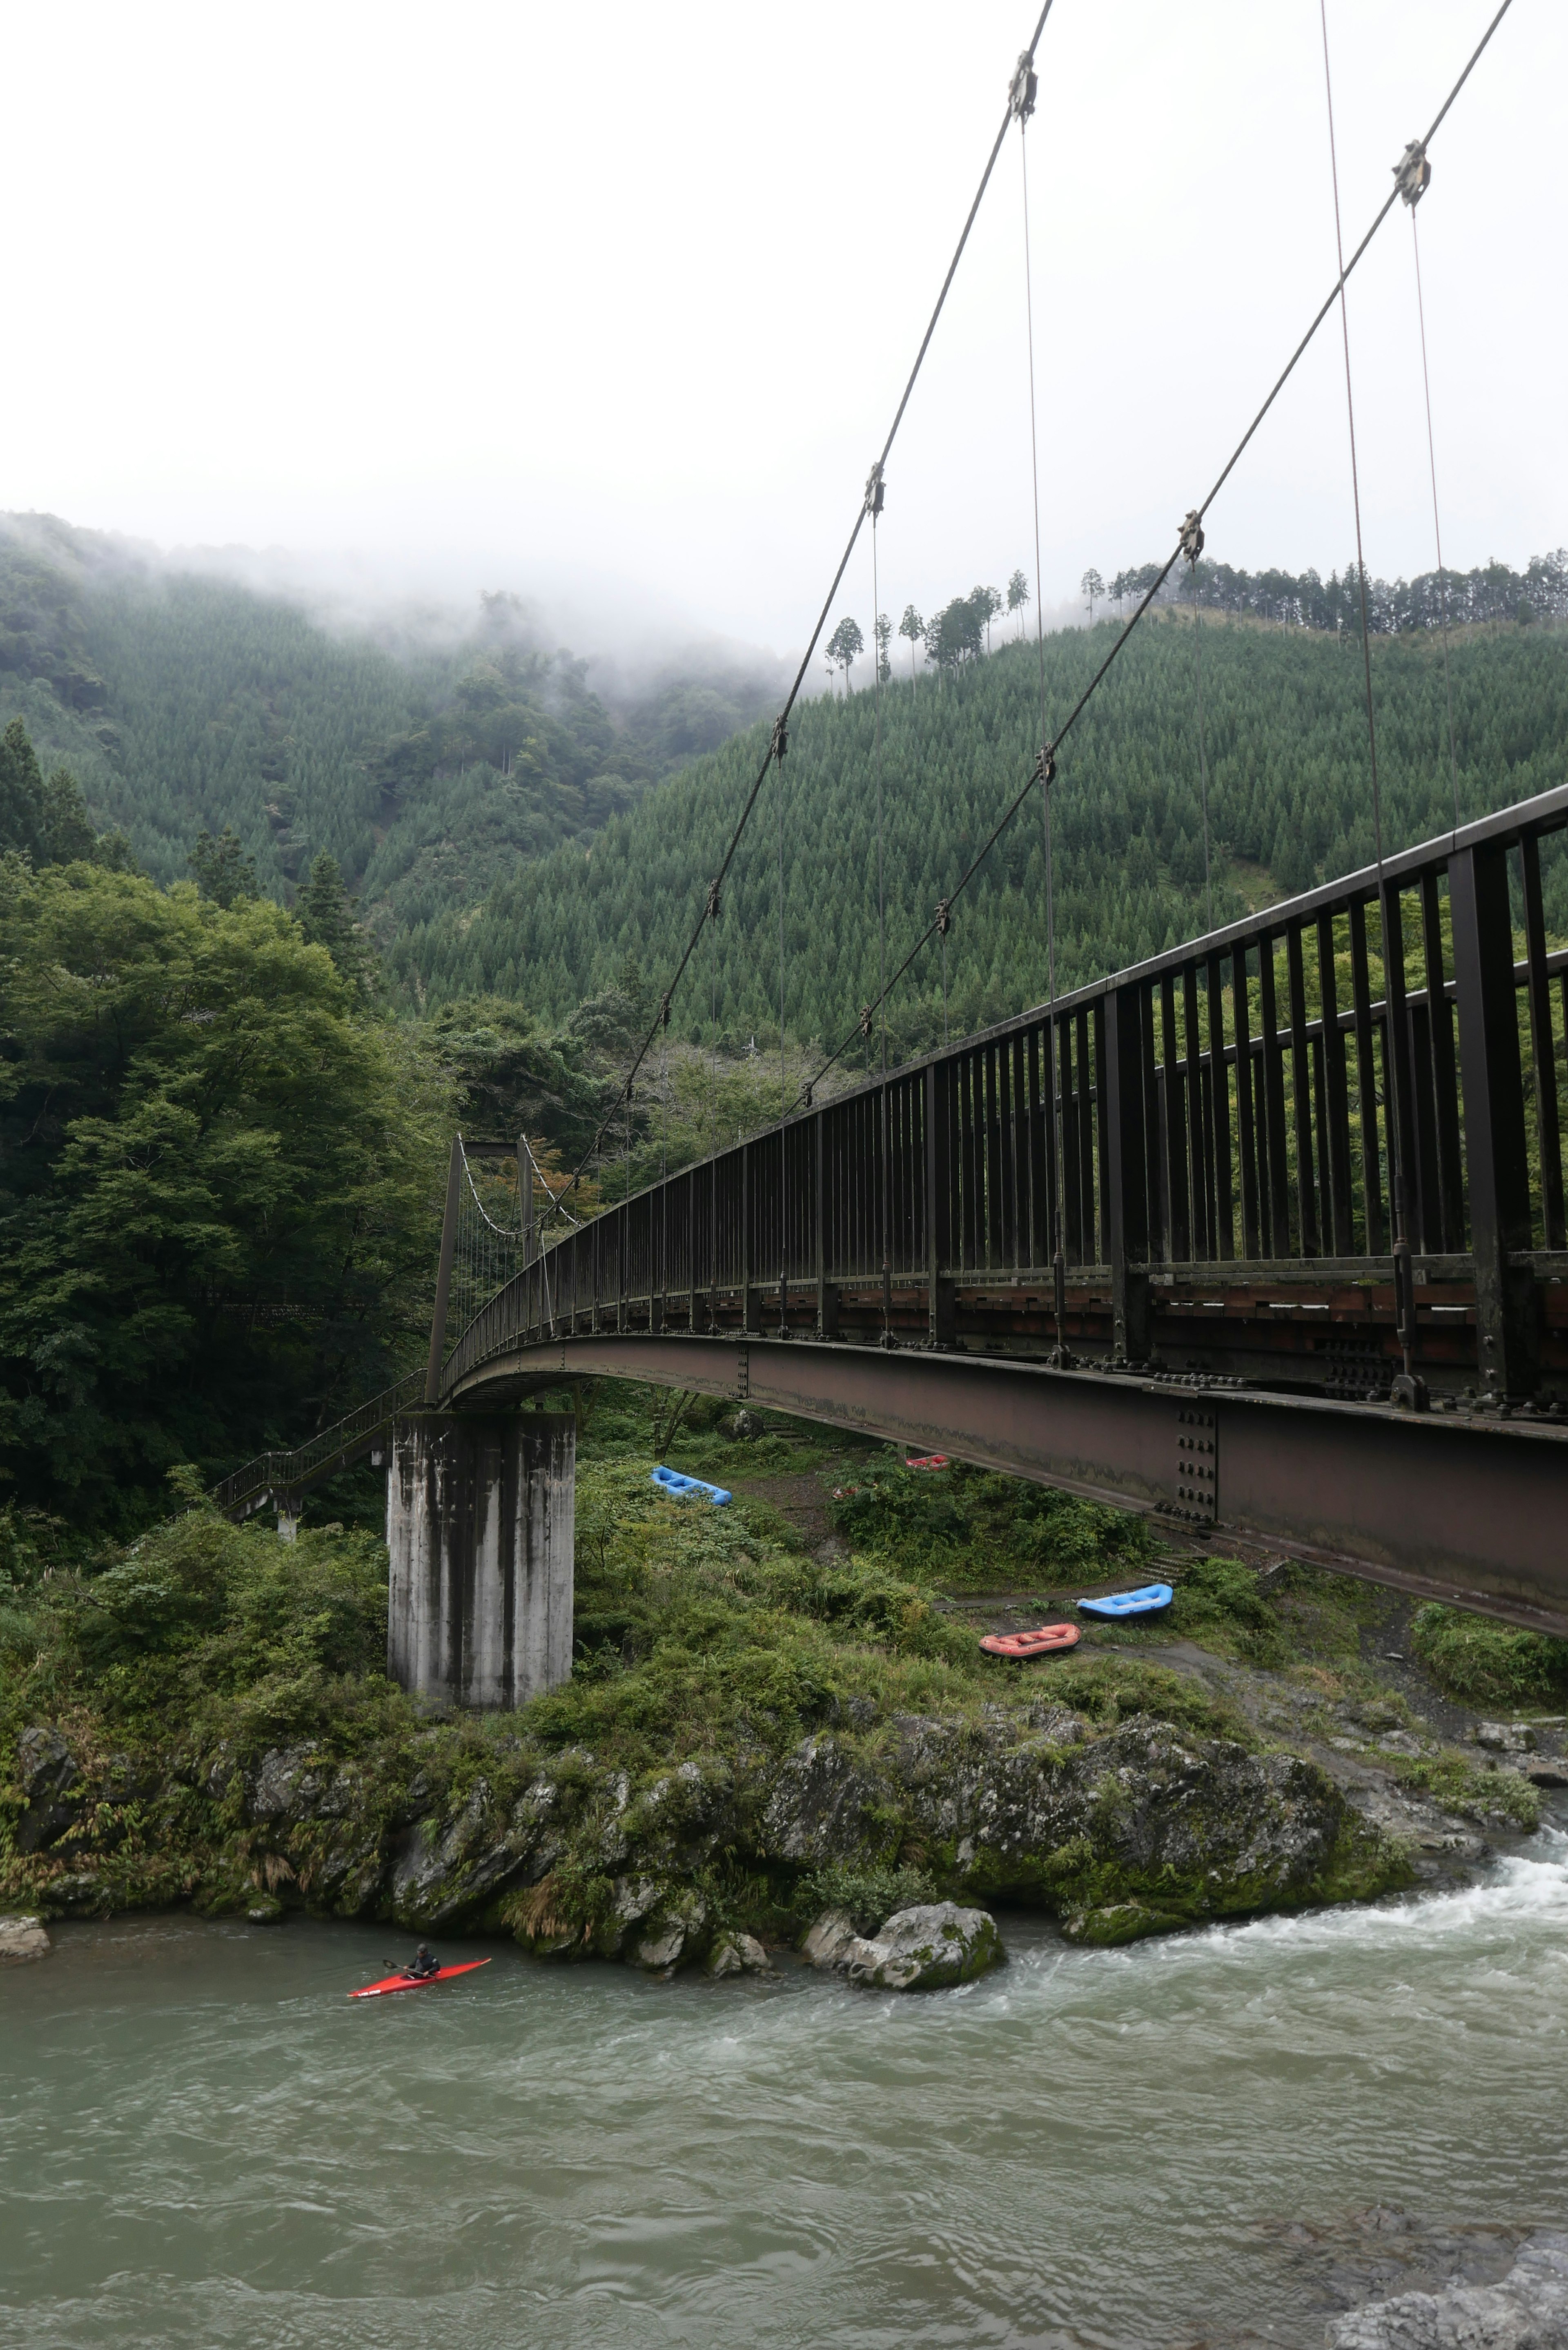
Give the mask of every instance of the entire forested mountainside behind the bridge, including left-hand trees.
[[(1204, 926), (1199, 649), (1215, 919), (1371, 860), (1359, 642), (1220, 585), (1201, 634), (1150, 616), (1063, 750), (1063, 985)], [(780, 844), (785, 1090), (853, 1034), (877, 778), (896, 964), (1034, 761), (1037, 653), (987, 656), (987, 611), (947, 604), (882, 698), (797, 710), (576, 1213), (776, 1114)], [(1048, 639), (1046, 731), (1112, 627)], [(1568, 780), (1561, 616), (1465, 625), (1450, 665), (1465, 815)], [(1373, 682), (1396, 848), (1453, 820), (1441, 637), (1382, 627)], [(741, 714), (691, 682), (609, 710), (503, 597), (461, 644), (348, 642), (0, 531), (0, 1516), (134, 1530), (165, 1469), (212, 1478), (421, 1358), (449, 1135), (524, 1130), (545, 1168), (592, 1144), (764, 757)], [(954, 909), (947, 1003), (936, 947), (898, 992), (898, 1050), (1044, 996), (1041, 846), (1032, 794)]]

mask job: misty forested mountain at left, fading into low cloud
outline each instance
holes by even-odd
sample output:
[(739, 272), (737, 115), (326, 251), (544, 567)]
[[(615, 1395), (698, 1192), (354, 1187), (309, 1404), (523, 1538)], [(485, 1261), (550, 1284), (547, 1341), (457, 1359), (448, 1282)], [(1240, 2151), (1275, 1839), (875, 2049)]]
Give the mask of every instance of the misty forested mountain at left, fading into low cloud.
[(609, 710), (515, 597), (473, 627), (341, 634), (54, 517), (0, 517), (0, 728), (66, 764), (160, 881), (230, 827), (266, 895), (336, 858), (383, 938), (480, 900), (755, 719), (771, 679), (670, 677)]

